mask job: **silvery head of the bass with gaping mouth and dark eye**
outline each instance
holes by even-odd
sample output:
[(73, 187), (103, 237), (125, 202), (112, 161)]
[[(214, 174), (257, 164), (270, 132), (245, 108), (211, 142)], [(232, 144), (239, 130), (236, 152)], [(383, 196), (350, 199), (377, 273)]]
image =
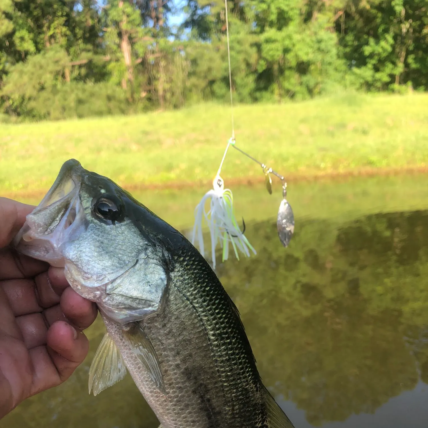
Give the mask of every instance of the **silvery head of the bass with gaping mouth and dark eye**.
[(126, 324), (160, 310), (171, 251), (182, 240), (109, 178), (71, 159), (14, 244), (21, 253), (63, 267), (78, 294)]

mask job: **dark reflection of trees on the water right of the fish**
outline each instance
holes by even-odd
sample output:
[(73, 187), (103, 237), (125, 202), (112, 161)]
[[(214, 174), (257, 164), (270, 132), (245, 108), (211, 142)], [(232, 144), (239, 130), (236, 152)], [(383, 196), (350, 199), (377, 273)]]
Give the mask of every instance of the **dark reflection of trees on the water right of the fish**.
[(265, 383), (308, 422), (373, 413), (427, 381), (428, 211), (299, 223), (286, 253), (273, 224), (248, 237), (257, 259), (220, 273)]

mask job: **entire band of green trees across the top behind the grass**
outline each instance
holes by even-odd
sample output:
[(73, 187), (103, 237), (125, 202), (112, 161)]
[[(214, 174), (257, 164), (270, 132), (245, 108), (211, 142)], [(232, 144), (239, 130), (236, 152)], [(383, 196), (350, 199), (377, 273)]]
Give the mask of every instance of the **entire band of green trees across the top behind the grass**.
[[(224, 3), (187, 0), (174, 33), (169, 17), (177, 12), (172, 0), (0, 0), (0, 108), (21, 118), (80, 117), (76, 107), (45, 108), (34, 95), (58, 106), (58, 94), (71, 89), (82, 90), (77, 104), (98, 104), (79, 109), (94, 115), (228, 101)], [(244, 0), (229, 2), (228, 14), (235, 101), (428, 85), (425, 0)], [(62, 87), (73, 82), (81, 84)], [(91, 101), (93, 88), (107, 92)], [(106, 97), (116, 101), (100, 108)]]

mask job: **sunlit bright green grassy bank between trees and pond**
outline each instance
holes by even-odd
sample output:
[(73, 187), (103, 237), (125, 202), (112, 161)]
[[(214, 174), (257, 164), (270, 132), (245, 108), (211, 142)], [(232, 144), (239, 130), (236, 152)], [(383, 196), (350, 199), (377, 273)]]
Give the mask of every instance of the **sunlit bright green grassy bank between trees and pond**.
[[(210, 181), (231, 135), (230, 109), (0, 125), (2, 194), (45, 192), (65, 160), (128, 186)], [(428, 167), (428, 95), (342, 95), (235, 107), (237, 146), (288, 178)], [(231, 149), (232, 180), (262, 178)]]

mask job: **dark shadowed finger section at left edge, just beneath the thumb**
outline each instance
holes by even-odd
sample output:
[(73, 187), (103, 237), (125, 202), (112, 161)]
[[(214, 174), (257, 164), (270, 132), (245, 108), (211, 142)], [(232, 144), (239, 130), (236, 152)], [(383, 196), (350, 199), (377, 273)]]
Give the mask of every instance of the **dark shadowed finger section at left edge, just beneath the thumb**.
[(0, 249), (0, 280), (30, 278), (47, 270), (48, 267), (47, 263), (24, 256), (12, 248)]

